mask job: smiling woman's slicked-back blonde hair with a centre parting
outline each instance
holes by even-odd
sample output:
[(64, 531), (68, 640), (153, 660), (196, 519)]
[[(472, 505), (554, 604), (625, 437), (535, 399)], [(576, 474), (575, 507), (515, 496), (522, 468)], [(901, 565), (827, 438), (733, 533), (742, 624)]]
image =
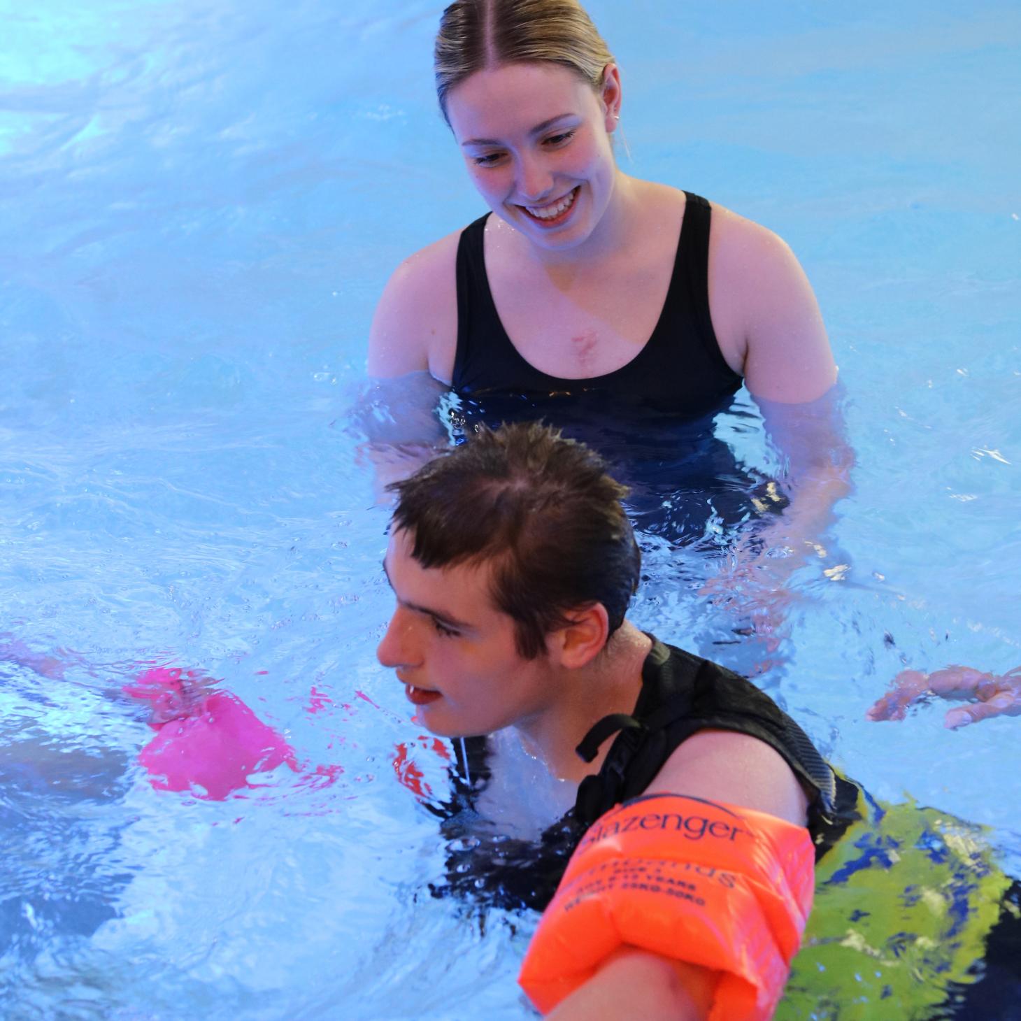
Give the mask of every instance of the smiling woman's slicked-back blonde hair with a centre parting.
[(598, 92), (613, 54), (578, 0), (454, 0), (440, 19), (433, 68), (443, 119), (450, 90), (503, 63), (556, 63)]

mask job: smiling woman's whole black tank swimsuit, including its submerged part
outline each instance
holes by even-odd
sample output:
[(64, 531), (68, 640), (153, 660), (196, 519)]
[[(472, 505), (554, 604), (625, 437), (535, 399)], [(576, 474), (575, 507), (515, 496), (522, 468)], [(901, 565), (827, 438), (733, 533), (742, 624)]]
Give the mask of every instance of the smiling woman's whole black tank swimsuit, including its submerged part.
[[(544, 421), (598, 450), (628, 486), (640, 532), (685, 545), (710, 518), (743, 527), (779, 512), (771, 479), (739, 464), (714, 418), (741, 386), (720, 352), (709, 308), (712, 207), (687, 196), (667, 298), (645, 346), (604, 376), (567, 380), (529, 364), (500, 323), (483, 257), (486, 216), (457, 247), (457, 352), (441, 418), (455, 442), (486, 425)], [(765, 508), (765, 512), (764, 512)]]

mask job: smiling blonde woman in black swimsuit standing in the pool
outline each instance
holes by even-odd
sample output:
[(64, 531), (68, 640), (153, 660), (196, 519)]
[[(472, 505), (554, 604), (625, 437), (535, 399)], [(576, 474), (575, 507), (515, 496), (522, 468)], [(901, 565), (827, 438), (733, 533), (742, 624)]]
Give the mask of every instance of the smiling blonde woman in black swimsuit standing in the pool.
[[(747, 582), (753, 565), (772, 586), (797, 557), (766, 550), (815, 543), (848, 490), (850, 455), (826, 399), (836, 367), (796, 258), (766, 228), (618, 167), (621, 75), (576, 0), (456, 0), (435, 66), (443, 115), (490, 211), (394, 273), (373, 322), (370, 375), (428, 372), (469, 415), (544, 417), (612, 461), (599, 436), (571, 428), (571, 402), (533, 398), (570, 394), (603, 421), (615, 402), (640, 402), (697, 420), (704, 438), (743, 383), (790, 469), (790, 503), (772, 501), (783, 514), (739, 571)], [(685, 436), (675, 452), (696, 445)], [(623, 474), (640, 495), (640, 479)], [(753, 490), (756, 480), (729, 474)], [(658, 491), (648, 500), (666, 502)], [(640, 515), (636, 524), (658, 530)], [(678, 537), (674, 522), (659, 531)]]

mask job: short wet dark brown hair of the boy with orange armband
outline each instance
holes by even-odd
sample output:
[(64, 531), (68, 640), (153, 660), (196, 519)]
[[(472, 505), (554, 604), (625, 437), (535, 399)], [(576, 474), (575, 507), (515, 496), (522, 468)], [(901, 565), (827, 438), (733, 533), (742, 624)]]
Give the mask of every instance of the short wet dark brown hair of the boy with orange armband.
[(391, 529), (407, 532), (422, 567), (493, 563), (493, 604), (525, 659), (572, 611), (601, 602), (611, 634), (624, 622), (641, 568), (627, 489), (583, 443), (535, 423), (481, 428), (388, 488)]

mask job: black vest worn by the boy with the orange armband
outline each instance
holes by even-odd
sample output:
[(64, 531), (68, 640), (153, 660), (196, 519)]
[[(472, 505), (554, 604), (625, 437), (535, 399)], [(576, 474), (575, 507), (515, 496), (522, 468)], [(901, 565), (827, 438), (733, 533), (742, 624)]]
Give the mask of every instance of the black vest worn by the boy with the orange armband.
[(817, 858), (858, 818), (858, 787), (833, 772), (769, 695), (739, 674), (652, 638), (634, 712), (604, 717), (585, 735), (578, 755), (591, 762), (617, 733), (599, 772), (579, 786), (574, 808), (537, 843), (497, 834), (479, 817), (475, 798), (489, 778), (485, 739), (467, 743), (453, 798), (432, 806), (444, 820), (450, 848), (446, 880), (433, 892), (457, 893), (480, 906), (544, 910), (585, 830), (615, 805), (643, 793), (674, 750), (708, 729), (749, 734), (783, 757), (809, 793)]

